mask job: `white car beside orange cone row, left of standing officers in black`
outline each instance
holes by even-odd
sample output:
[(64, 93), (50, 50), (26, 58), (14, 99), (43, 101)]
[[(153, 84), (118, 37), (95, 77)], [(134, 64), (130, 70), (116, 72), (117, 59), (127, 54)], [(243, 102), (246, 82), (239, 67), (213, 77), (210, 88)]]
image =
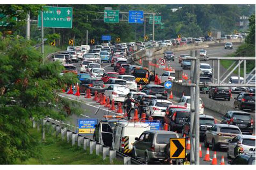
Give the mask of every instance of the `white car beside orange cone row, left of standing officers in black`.
[(126, 95), (130, 92), (129, 88), (124, 85), (110, 85), (104, 92), (106, 97), (112, 101), (124, 102)]

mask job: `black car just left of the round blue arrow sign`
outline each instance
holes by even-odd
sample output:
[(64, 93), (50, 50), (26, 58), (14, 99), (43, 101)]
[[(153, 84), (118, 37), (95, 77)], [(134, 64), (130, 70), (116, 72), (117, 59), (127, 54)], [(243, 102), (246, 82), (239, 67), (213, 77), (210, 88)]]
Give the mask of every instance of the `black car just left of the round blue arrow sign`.
[(145, 85), (141, 92), (150, 95), (155, 95), (157, 99), (167, 99), (167, 91), (162, 85)]

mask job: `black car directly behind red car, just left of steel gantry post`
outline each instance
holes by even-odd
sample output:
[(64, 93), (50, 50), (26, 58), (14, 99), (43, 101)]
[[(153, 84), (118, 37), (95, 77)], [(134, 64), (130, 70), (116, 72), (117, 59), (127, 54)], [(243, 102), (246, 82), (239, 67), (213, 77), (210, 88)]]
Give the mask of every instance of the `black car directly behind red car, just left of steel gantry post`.
[(181, 132), (184, 123), (189, 118), (189, 110), (183, 108), (173, 108), (168, 114), (169, 130)]

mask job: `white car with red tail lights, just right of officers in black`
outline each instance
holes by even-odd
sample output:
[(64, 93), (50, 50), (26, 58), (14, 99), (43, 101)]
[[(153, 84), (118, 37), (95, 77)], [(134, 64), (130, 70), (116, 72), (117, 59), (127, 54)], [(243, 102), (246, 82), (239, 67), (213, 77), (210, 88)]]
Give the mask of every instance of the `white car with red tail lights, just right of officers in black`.
[(160, 118), (162, 120), (169, 105), (172, 105), (172, 102), (169, 100), (153, 99), (148, 103), (146, 115), (152, 116), (155, 119)]

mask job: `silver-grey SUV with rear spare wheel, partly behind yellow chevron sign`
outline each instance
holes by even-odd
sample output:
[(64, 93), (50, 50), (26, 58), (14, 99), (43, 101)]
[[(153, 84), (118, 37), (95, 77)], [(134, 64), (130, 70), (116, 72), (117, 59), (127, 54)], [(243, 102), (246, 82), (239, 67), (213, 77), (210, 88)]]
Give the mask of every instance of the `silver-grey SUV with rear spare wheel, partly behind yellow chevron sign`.
[(165, 159), (165, 147), (170, 138), (179, 138), (178, 133), (165, 130), (147, 130), (133, 143), (132, 157), (144, 159), (148, 164), (153, 161)]

